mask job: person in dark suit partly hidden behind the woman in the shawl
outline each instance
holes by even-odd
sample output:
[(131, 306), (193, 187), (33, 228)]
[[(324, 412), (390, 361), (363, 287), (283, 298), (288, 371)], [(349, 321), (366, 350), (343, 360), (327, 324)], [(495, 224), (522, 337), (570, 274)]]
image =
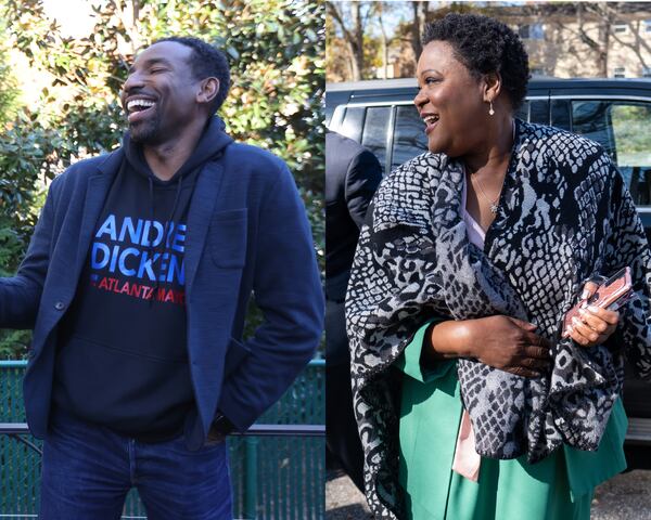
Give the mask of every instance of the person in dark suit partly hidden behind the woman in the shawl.
[(330, 455), (362, 491), (344, 299), (359, 230), (381, 180), (371, 152), (336, 132), (326, 134), (326, 439)]

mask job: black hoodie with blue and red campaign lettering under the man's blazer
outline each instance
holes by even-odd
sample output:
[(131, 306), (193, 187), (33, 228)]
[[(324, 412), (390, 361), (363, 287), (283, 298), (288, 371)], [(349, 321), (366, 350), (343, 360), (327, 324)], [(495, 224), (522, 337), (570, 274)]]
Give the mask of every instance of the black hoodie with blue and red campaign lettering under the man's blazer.
[(125, 135), (64, 316), (55, 406), (144, 442), (173, 439), (194, 405), (186, 339), (184, 239), (196, 179), (232, 140), (213, 118), (186, 164), (157, 179)]

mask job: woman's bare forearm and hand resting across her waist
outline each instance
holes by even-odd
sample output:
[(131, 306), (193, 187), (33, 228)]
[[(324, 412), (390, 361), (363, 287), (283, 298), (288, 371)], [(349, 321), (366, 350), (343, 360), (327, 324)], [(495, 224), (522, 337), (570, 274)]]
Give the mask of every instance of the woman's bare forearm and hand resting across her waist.
[(503, 315), (434, 324), (427, 359), (476, 358), (516, 376), (539, 377), (551, 364), (551, 343), (535, 329), (531, 323)]

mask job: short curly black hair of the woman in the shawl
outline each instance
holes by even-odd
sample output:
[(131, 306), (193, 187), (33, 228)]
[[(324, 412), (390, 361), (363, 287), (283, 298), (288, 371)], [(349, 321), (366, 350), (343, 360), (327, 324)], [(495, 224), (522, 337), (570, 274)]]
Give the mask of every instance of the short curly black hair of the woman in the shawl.
[(499, 73), (513, 110), (522, 105), (529, 78), (528, 56), (509, 26), (488, 16), (449, 13), (425, 25), (423, 47), (431, 41), (447, 41), (457, 60), (476, 78)]

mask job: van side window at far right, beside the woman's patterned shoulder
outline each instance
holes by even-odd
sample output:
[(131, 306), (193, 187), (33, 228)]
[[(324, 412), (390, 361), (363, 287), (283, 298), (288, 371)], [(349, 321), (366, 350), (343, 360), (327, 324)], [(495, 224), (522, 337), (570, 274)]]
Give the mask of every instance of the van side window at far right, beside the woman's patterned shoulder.
[(575, 101), (574, 131), (600, 143), (638, 206), (651, 205), (651, 103)]

